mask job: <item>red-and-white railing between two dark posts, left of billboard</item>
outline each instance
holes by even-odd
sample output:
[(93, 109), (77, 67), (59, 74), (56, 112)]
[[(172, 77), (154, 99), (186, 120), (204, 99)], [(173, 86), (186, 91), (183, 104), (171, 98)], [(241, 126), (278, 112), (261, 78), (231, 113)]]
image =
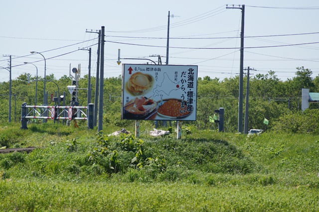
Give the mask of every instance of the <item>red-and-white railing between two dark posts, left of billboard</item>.
[[(28, 108), (32, 108), (28, 111)], [(39, 112), (37, 108), (43, 110)], [(61, 112), (60, 112), (61, 109)], [(87, 109), (85, 113), (82, 109)], [(88, 128), (93, 129), (93, 114), (94, 104), (89, 104), (89, 106), (28, 106), (26, 103), (21, 105), (21, 127), (20, 129), (27, 129), (27, 119), (52, 119), (52, 120), (88, 120)], [(44, 116), (50, 112), (50, 116)], [(34, 114), (34, 115), (30, 115)], [(36, 115), (35, 115), (36, 114)], [(67, 116), (66, 116), (67, 114)], [(77, 117), (77, 116), (84, 117)]]

